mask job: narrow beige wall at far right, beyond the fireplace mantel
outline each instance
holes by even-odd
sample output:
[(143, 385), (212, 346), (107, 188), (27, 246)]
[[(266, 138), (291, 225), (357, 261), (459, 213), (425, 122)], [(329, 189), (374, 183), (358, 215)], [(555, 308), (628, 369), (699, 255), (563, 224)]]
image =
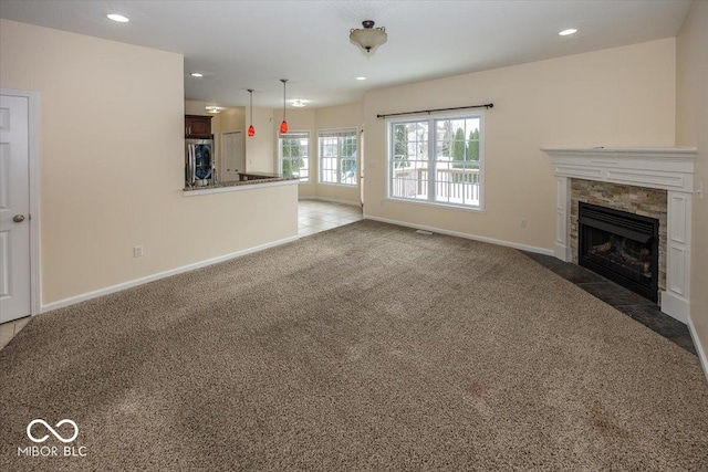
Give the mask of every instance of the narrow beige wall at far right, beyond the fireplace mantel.
[[(677, 36), (676, 144), (696, 146), (696, 186), (708, 190), (708, 2), (695, 1)], [(693, 199), (691, 313), (708, 359), (708, 197)], [(704, 365), (708, 371), (708, 365)]]

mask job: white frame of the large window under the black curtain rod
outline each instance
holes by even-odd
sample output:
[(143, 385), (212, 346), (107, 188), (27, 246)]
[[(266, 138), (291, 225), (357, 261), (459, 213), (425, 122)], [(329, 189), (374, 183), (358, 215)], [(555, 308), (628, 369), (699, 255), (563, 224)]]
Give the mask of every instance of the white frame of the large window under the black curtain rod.
[[(454, 202), (445, 202), (445, 201), (435, 201), (435, 191), (434, 191), (434, 179), (430, 178), (435, 166), (428, 167), (428, 191), (427, 199), (420, 198), (406, 198), (393, 195), (394, 189), (394, 172), (393, 172), (393, 158), (394, 158), (394, 126), (398, 124), (408, 124), (408, 123), (428, 123), (428, 132), (427, 132), (427, 146), (428, 146), (428, 161), (433, 162), (435, 159), (436, 151), (436, 141), (435, 141), (435, 123), (446, 119), (466, 119), (466, 118), (479, 118), (479, 206), (472, 204), (462, 204), (462, 203), (454, 203)], [(486, 123), (485, 123), (485, 112), (483, 111), (475, 111), (467, 113), (456, 113), (456, 114), (436, 114), (436, 115), (426, 115), (424, 117), (409, 117), (403, 119), (388, 118), (386, 119), (386, 146), (387, 146), (387, 157), (386, 157), (386, 199), (393, 200), (397, 202), (406, 202), (406, 203), (415, 203), (428, 207), (441, 207), (449, 209), (458, 209), (465, 211), (475, 211), (475, 212), (485, 212), (485, 132), (486, 132)]]

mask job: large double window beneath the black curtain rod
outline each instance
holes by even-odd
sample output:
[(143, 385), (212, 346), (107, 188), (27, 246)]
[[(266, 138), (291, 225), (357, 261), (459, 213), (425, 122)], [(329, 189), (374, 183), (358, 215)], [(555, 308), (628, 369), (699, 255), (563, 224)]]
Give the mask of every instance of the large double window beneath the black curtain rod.
[(388, 123), (388, 197), (481, 209), (483, 116)]

